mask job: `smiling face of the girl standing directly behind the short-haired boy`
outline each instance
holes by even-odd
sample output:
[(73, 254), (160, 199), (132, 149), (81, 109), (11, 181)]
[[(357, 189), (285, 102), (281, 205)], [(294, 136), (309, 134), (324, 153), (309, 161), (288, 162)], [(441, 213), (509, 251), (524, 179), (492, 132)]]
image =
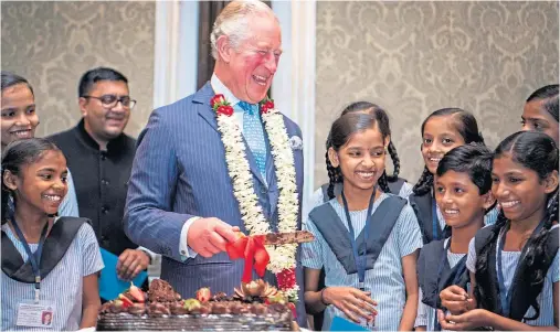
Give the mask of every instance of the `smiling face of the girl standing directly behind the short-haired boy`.
[(424, 125), (422, 133), (422, 157), (430, 173), (435, 174), (443, 156), (465, 143), (458, 132), (453, 115), (433, 116)]

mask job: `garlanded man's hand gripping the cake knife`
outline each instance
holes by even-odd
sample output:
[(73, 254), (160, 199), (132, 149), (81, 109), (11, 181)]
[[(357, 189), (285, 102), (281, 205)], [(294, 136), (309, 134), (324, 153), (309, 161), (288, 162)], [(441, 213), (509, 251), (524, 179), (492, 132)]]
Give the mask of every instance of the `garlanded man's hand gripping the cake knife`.
[(187, 233), (187, 244), (202, 257), (209, 258), (225, 251), (228, 242), (235, 242), (239, 227), (232, 227), (219, 218), (200, 218), (192, 223)]

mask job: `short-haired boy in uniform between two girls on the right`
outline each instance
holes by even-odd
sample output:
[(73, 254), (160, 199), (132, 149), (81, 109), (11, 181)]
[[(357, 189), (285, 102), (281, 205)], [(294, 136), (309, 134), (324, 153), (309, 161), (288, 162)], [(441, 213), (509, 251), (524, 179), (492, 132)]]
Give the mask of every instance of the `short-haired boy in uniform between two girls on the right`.
[(437, 165), (435, 200), (453, 232), (451, 237), (433, 240), (420, 251), (416, 331), (440, 331), (440, 292), (450, 285), (466, 287), (468, 243), (496, 202), (490, 192), (492, 157), (483, 144), (471, 143), (445, 153)]

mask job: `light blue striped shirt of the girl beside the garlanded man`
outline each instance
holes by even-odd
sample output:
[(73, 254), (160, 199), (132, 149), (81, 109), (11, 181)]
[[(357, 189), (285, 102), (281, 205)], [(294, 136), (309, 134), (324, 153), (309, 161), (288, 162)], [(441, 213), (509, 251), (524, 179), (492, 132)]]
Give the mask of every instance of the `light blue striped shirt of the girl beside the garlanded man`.
[[(372, 213), (376, 212), (379, 204), (389, 197), (390, 194), (383, 193), (374, 203)], [(344, 207), (336, 199), (329, 201), (340, 222), (347, 227)], [(368, 211), (351, 211), (350, 218), (355, 236), (358, 237), (366, 225)], [(303, 244), (302, 264), (304, 267), (320, 269), (325, 267), (326, 287), (344, 286), (358, 288), (358, 274), (348, 275), (338, 261), (335, 253), (308, 217), (305, 229), (315, 235), (315, 242)], [(416, 216), (410, 205), (404, 205), (399, 218), (389, 235), (373, 269), (366, 271), (366, 288), (371, 290), (371, 298), (378, 302), (378, 315), (376, 318), (376, 329), (381, 331), (395, 331), (406, 301), (406, 291), (402, 271), (402, 257), (413, 254), (422, 247), (422, 235), (418, 225)], [(328, 306), (325, 310), (325, 321), (323, 330), (330, 330), (332, 318), (339, 315), (345, 318), (345, 313), (335, 306)], [(318, 326), (317, 326), (318, 328)]]

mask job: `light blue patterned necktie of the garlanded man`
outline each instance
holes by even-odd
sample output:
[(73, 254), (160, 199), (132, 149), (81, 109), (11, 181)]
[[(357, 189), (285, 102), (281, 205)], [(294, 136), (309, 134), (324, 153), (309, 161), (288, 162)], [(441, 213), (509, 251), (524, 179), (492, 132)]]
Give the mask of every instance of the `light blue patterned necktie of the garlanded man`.
[(246, 101), (240, 101), (237, 105), (243, 109), (243, 136), (253, 152), (258, 171), (263, 179), (266, 179), (266, 144), (258, 106)]

